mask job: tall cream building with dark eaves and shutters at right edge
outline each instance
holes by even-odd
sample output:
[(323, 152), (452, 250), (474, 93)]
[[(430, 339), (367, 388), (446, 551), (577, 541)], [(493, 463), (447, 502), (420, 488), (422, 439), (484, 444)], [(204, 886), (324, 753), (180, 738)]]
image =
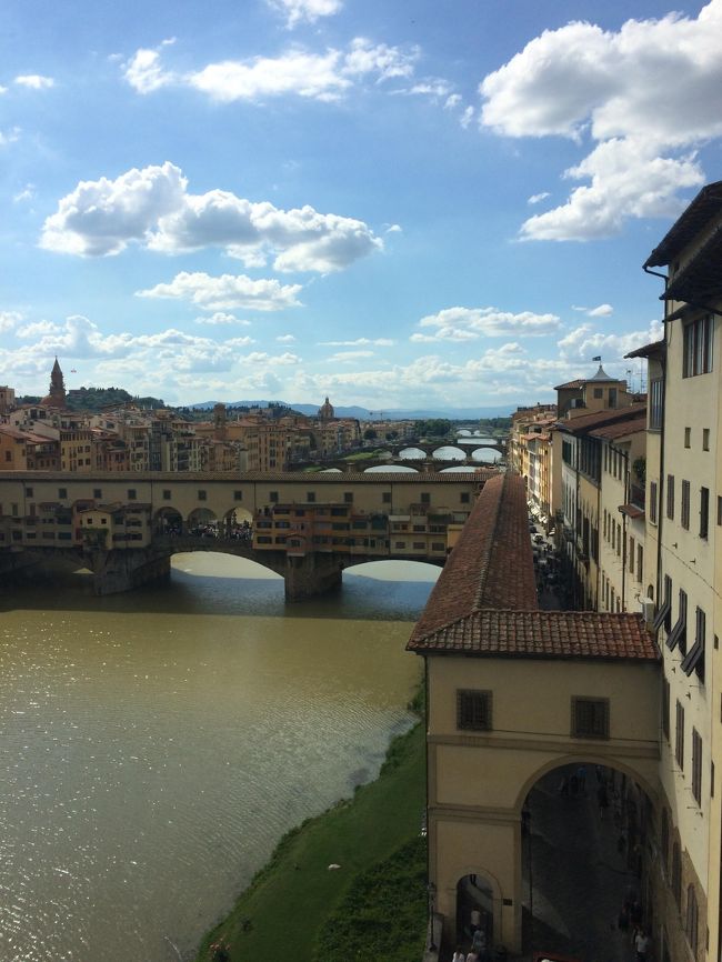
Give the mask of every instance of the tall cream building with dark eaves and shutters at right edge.
[[(720, 959), (722, 182), (648, 258), (664, 338), (649, 361), (645, 594), (663, 654), (653, 918), (664, 959)], [(660, 269), (664, 269), (660, 271)]]

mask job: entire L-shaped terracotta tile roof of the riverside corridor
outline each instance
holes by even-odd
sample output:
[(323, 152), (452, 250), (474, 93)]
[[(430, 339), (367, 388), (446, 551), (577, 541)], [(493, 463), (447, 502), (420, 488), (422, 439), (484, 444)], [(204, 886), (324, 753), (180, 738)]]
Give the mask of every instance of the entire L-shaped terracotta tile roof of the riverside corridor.
[(489, 480), (407, 650), (658, 662), (659, 650), (639, 614), (538, 609), (528, 521), (523, 479)]

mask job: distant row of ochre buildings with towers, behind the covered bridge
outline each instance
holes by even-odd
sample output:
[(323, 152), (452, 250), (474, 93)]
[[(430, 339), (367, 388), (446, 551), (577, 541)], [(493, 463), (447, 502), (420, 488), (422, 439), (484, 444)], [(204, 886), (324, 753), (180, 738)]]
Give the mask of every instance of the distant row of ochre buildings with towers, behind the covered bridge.
[[(72, 471), (285, 471), (358, 448), (361, 425), (337, 418), (325, 399), (314, 418), (283, 405), (231, 409), (217, 404), (209, 420), (173, 410), (142, 410), (132, 403), (88, 413), (69, 410), (60, 364), (50, 390), (36, 404), (16, 404), (16, 392), (0, 387), (0, 470)], [(411, 433), (412, 422), (383, 421), (379, 439)]]

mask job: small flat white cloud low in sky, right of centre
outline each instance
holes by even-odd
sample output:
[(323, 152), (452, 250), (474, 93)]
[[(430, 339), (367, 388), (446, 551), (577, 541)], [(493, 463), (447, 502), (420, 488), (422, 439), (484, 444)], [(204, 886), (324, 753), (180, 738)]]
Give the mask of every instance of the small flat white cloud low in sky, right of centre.
[(555, 314), (522, 311), (514, 314), (497, 308), (445, 308), (419, 321), (420, 328), (433, 328), (432, 333), (413, 333), (411, 341), (471, 341), (480, 337), (501, 338), (513, 334), (543, 337), (555, 333), (561, 325)]

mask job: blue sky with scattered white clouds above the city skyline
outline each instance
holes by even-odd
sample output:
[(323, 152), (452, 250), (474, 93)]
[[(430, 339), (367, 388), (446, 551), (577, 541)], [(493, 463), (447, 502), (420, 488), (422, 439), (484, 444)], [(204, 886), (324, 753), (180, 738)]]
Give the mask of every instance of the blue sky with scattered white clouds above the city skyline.
[[(661, 335), (722, 0), (6, 0), (0, 383), (554, 400)], [(628, 374), (628, 371), (631, 371)]]

